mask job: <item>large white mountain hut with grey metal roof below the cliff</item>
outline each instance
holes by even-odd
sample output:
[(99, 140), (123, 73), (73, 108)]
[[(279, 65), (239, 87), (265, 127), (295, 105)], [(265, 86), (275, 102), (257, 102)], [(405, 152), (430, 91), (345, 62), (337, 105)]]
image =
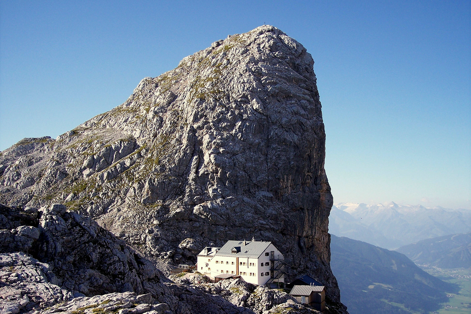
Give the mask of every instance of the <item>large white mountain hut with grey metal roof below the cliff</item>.
[(196, 270), (212, 280), (240, 276), (259, 286), (284, 285), (284, 256), (271, 242), (227, 241), (222, 248), (205, 247)]

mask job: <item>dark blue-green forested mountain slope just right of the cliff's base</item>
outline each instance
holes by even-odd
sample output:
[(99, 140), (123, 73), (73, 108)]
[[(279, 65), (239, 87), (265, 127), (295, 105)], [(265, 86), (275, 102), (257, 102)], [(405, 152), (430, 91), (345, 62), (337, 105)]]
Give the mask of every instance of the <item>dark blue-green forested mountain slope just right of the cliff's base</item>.
[(459, 290), (399, 252), (331, 237), (331, 267), (350, 314), (427, 313), (447, 302), (446, 292)]

